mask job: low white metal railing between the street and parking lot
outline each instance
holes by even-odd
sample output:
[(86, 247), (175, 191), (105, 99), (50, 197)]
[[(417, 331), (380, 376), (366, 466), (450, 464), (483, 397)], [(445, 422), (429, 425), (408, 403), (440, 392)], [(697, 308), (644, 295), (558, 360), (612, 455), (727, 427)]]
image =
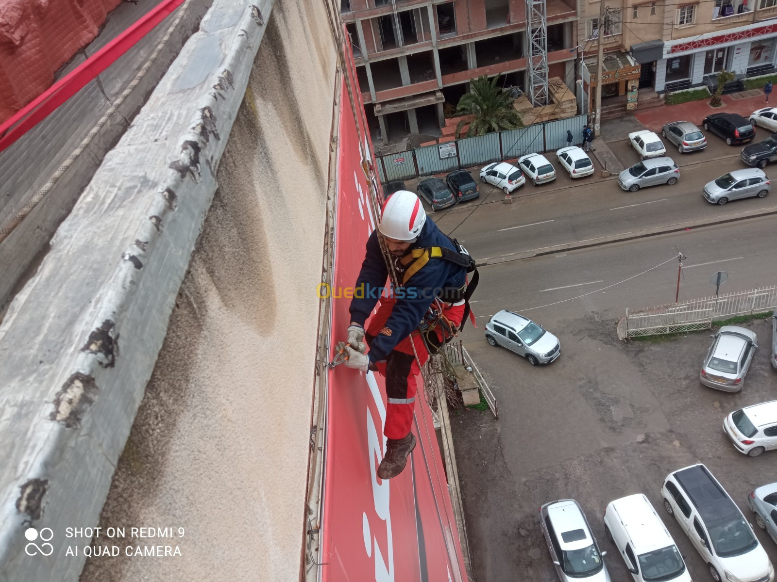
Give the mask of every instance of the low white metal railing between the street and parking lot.
[(777, 285), (724, 293), (719, 296), (626, 312), (618, 321), (618, 338), (671, 334), (677, 331), (709, 329), (713, 320), (735, 315), (757, 314), (777, 307)]

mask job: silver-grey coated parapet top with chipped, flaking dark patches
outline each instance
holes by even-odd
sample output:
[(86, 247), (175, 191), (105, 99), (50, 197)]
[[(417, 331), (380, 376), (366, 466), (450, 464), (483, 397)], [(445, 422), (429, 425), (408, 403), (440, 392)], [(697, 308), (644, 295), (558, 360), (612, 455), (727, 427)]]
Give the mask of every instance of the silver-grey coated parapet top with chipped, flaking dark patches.
[[(83, 553), (68, 549), (89, 539), (68, 539), (66, 528), (99, 520), (271, 6), (214, 1), (0, 326), (0, 580), (60, 582), (82, 570)], [(204, 469), (197, 450), (187, 449), (187, 466)], [(30, 553), (30, 526), (41, 532), (38, 543), (51, 539), (50, 552), (43, 544)]]

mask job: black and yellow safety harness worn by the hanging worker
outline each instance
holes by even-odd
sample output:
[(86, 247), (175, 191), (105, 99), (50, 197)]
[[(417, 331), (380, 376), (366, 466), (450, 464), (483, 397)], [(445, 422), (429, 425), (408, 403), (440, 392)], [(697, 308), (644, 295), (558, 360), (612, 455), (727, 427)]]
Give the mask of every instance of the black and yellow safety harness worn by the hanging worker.
[[(461, 287), (444, 287), (434, 302), (432, 302), (429, 310), (427, 310), (427, 314), (424, 315), (421, 321), (420, 330), (427, 338), (427, 344), (437, 348), (439, 346), (434, 346), (436, 341), (432, 341), (434, 334), (430, 332), (434, 331), (437, 325), (440, 325), (443, 329), (444, 343), (448, 343), (451, 338), (458, 334), (458, 331), (464, 329), (467, 317), (471, 313), (469, 298), (472, 297), (472, 293), (475, 293), (480, 279), (478, 269), (475, 266), (475, 259), (469, 255), (469, 252), (461, 244), (458, 244), (455, 238), (448, 237), (448, 241), (451, 241), (456, 250), (447, 247), (414, 248), (397, 261), (399, 263), (397, 266), (402, 271), (402, 285), (405, 285), (410, 277), (419, 272), (432, 259), (451, 262), (454, 265), (465, 268), (468, 275), (472, 273), (472, 279), (469, 281), (465, 279), (465, 284)], [(444, 306), (442, 303), (457, 303), (462, 300), (464, 301), (464, 317), (462, 317), (462, 324), (457, 331), (455, 325), (444, 316)]]

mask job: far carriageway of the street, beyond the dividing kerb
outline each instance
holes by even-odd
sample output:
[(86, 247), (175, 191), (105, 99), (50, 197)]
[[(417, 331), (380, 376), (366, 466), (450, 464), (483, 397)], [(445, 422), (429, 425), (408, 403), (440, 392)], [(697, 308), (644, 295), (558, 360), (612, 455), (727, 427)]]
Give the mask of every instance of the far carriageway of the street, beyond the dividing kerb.
[[(758, 139), (766, 137), (759, 130)], [(611, 147), (625, 165), (639, 158), (628, 141)], [(499, 260), (521, 251), (555, 244), (587, 241), (594, 237), (632, 233), (689, 220), (725, 220), (749, 210), (777, 210), (775, 194), (716, 206), (702, 198), (706, 182), (735, 169), (746, 168), (738, 159), (741, 147), (729, 147), (718, 137), (709, 137), (705, 151), (670, 155), (681, 169), (675, 185), (658, 185), (638, 192), (625, 192), (615, 178), (578, 178), (572, 182), (559, 175), (556, 184), (524, 185), (512, 204), (504, 204), (503, 192), (481, 185), (479, 200), (452, 210), (434, 213), (437, 225), (457, 237), (480, 261)], [(770, 168), (766, 168), (767, 174)]]

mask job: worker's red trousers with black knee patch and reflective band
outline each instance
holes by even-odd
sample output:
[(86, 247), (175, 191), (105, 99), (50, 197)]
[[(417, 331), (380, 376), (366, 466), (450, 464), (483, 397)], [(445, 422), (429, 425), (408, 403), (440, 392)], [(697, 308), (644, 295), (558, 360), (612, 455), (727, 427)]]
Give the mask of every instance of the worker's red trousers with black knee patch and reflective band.
[[(395, 299), (382, 298), (378, 304), (378, 312), (372, 316), (370, 324), (367, 327), (365, 339), (368, 345), (372, 338), (378, 335), (389, 319), (394, 308)], [(458, 327), (462, 324), (464, 317), (464, 302), (444, 303), (443, 315), (451, 321), (451, 324)], [(443, 331), (438, 325), (435, 329), (437, 337), (441, 343), (444, 341)], [(411, 344), (410, 341), (413, 341)], [(413, 405), (416, 401), (418, 390), (418, 377), (421, 370), (419, 362), (416, 361), (416, 355), (413, 353), (413, 345), (416, 347), (420, 365), (427, 363), (429, 352), (418, 331), (413, 331), (408, 337), (402, 339), (389, 352), (386, 359), (378, 362), (378, 372), (385, 378), (386, 397), (389, 404), (386, 407), (386, 424), (383, 428), (383, 434), (386, 438), (398, 440), (405, 438), (413, 424)]]

